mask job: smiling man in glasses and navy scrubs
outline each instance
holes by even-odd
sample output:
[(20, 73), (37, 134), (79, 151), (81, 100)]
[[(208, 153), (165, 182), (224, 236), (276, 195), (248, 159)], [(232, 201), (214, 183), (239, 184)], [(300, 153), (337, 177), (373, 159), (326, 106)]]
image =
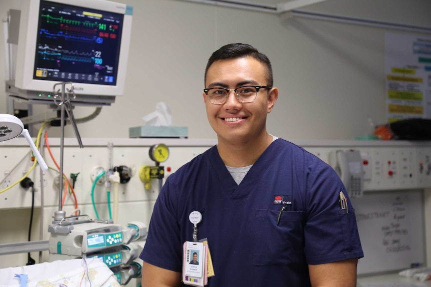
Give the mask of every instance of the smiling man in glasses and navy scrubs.
[(166, 179), (140, 256), (142, 287), (181, 286), (193, 211), (212, 257), (209, 287), (355, 287), (363, 253), (348, 198), (340, 208), (339, 177), (266, 131), (278, 97), (268, 58), (228, 44), (211, 55), (204, 79), (218, 144)]

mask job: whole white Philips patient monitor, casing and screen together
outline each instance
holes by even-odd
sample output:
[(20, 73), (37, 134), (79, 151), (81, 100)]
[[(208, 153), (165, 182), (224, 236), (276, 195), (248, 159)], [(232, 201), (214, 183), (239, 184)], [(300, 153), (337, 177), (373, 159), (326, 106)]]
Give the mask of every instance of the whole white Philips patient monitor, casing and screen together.
[(21, 0), (6, 91), (52, 101), (54, 84), (71, 82), (76, 101), (113, 102), (124, 90), (132, 11), (107, 0)]

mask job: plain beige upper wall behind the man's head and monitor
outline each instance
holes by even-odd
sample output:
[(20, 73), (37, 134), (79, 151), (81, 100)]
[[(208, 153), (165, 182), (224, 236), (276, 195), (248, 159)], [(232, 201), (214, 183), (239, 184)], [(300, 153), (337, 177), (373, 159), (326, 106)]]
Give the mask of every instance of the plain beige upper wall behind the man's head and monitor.
[[(119, 1), (133, 6), (124, 95), (103, 107), (94, 120), (80, 124), (82, 137), (128, 137), (128, 128), (144, 125), (141, 117), (164, 101), (172, 109), (172, 125), (188, 127), (190, 138), (214, 138), (202, 100), (203, 72), (209, 55), (230, 42), (250, 43), (272, 60), (274, 86), (279, 88), (268, 117), (272, 134), (286, 139), (352, 139), (370, 132), (368, 118), (375, 124), (386, 122), (384, 33), (397, 30), (286, 19), (179, 0)], [(275, 5), (279, 0), (255, 2)], [(0, 1), (2, 17), (19, 3)], [(431, 3), (423, 0), (328, 0), (305, 9), (431, 26)], [(1, 60), (1, 79), (3, 65)], [(1, 80), (0, 91), (3, 85)], [(4, 97), (0, 92), (0, 112), (6, 111)], [(33, 113), (46, 109), (34, 105)], [(78, 118), (92, 111), (76, 107), (74, 114)], [(51, 133), (59, 136), (59, 128)], [(70, 126), (66, 136), (73, 136)]]

